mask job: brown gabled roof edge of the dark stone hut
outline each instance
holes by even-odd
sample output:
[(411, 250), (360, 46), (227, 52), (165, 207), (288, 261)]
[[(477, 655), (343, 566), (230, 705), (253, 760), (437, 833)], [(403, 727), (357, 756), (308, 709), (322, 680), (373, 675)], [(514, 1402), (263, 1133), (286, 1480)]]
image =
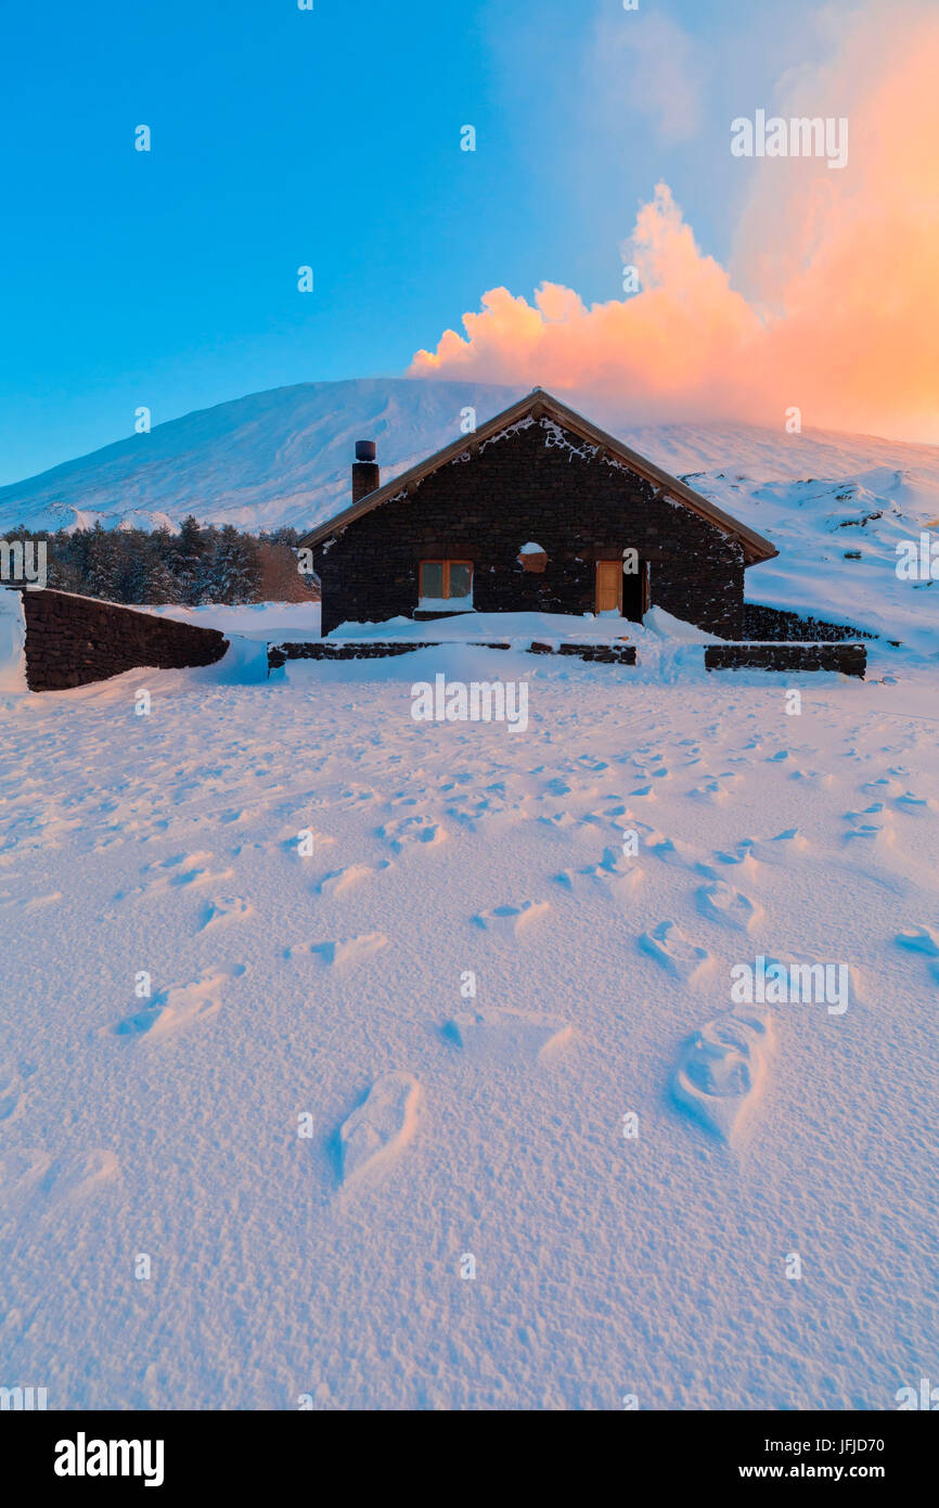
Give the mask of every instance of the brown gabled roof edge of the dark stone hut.
[(555, 419), (564, 430), (570, 434), (579, 436), (589, 445), (595, 445), (603, 454), (609, 455), (612, 460), (621, 461), (638, 477), (645, 481), (653, 483), (657, 489), (659, 496), (672, 498), (677, 502), (683, 502), (699, 517), (707, 519), (708, 523), (716, 525), (729, 538), (739, 540), (743, 546), (743, 558), (748, 566), (754, 566), (757, 561), (772, 559), (779, 550), (769, 540), (764, 540), (761, 534), (755, 529), (748, 528), (746, 523), (740, 523), (739, 519), (733, 519), (729, 513), (723, 513), (716, 504), (702, 498), (699, 492), (689, 487), (687, 483), (680, 481), (677, 477), (669, 477), (668, 472), (656, 466), (654, 461), (645, 460), (636, 451), (632, 451), (629, 445), (616, 440), (612, 434), (604, 430), (598, 430), (595, 424), (585, 419), (580, 413), (574, 413), (567, 404), (561, 403), (558, 398), (552, 397), (550, 392), (544, 392), (543, 388), (535, 388), (529, 392), (526, 398), (514, 403), (511, 409), (505, 409), (497, 413), (494, 419), (487, 419), (481, 424), (478, 430), (472, 434), (461, 434), (460, 439), (454, 440), (452, 445), (446, 445), (436, 455), (428, 455), (425, 461), (419, 466), (411, 466), (410, 470), (402, 472), (395, 477), (393, 481), (386, 483), (383, 487), (377, 487), (375, 492), (369, 492), (366, 498), (360, 498), (359, 502), (353, 502), (351, 507), (344, 508), (342, 513), (336, 513), (326, 523), (318, 523), (315, 529), (304, 534), (300, 544), (312, 546), (320, 544), (323, 540), (330, 538), (335, 534), (341, 534), (347, 525), (354, 523), (365, 513), (371, 513), (372, 508), (378, 508), (383, 502), (390, 502), (392, 498), (401, 496), (401, 493), (413, 493), (418, 490), (419, 484), (433, 472), (440, 470), (442, 466), (448, 466), (449, 461), (457, 460), (460, 455), (466, 455), (467, 451), (475, 454), (488, 439), (500, 434), (502, 430), (508, 430), (512, 424), (518, 424), (531, 415), (534, 419), (549, 418)]

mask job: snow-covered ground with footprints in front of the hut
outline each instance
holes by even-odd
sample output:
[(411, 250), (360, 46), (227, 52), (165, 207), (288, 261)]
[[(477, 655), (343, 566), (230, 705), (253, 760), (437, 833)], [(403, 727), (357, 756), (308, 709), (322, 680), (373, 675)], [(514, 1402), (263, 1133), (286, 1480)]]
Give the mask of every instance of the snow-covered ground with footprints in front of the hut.
[[(309, 609), (220, 611), (217, 667), (0, 703), (0, 1380), (877, 1410), (934, 1377), (934, 667), (265, 680)], [(526, 731), (416, 722), (439, 674), (523, 679)], [(847, 1009), (734, 1006), (758, 956), (846, 965)]]

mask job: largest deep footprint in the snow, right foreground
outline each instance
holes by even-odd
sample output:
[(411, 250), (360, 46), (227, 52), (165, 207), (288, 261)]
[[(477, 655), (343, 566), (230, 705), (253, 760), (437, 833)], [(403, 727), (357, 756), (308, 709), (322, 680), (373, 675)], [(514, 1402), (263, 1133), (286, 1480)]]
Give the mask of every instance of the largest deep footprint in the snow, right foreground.
[(722, 1142), (731, 1142), (757, 1104), (773, 1045), (770, 1016), (752, 1006), (708, 1021), (684, 1044), (672, 1096)]

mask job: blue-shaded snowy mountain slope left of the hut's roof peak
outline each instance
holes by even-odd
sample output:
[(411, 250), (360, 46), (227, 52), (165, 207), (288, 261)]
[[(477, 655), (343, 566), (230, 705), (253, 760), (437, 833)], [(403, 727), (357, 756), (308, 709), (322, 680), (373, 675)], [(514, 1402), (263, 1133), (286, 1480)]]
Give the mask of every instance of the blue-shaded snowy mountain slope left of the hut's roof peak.
[(374, 439), (405, 470), (460, 433), (460, 412), (488, 418), (518, 391), (404, 379), (303, 383), (252, 394), (157, 425), (92, 455), (0, 489), (0, 526), (71, 526), (99, 517), (178, 523), (187, 513), (240, 528), (306, 526), (348, 501), (354, 442)]

